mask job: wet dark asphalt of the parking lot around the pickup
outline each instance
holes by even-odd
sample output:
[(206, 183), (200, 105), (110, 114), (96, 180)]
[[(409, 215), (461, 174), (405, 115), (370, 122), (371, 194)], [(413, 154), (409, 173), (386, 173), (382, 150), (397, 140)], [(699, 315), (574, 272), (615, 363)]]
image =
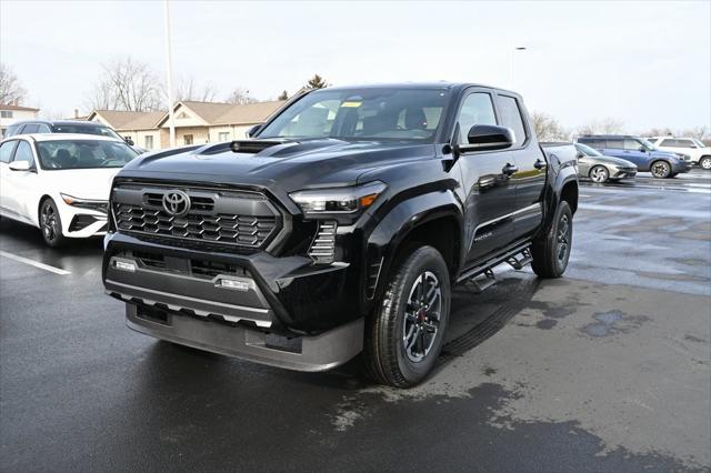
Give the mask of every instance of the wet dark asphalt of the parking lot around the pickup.
[(2, 220), (0, 470), (708, 471), (711, 173), (583, 183), (574, 225), (565, 278), (458, 288), (399, 391), (131, 332), (101, 241)]

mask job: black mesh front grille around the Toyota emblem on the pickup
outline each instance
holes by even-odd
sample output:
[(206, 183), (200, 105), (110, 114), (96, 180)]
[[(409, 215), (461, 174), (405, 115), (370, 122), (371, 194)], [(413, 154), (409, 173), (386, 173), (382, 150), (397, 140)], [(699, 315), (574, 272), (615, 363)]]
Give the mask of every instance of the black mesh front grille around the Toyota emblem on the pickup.
[(112, 194), (117, 230), (149, 239), (257, 249), (266, 245), (280, 229), (279, 212), (260, 193), (178, 188), (190, 199), (189, 211), (178, 217), (163, 207), (163, 195), (176, 189), (117, 187)]

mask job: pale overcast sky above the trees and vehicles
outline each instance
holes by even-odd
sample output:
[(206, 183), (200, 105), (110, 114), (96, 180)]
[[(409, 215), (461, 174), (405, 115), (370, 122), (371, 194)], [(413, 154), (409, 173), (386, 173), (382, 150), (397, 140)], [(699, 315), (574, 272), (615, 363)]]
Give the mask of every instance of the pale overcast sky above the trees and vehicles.
[[(513, 88), (565, 127), (711, 125), (711, 1), (172, 1), (173, 70), (260, 99), (332, 84), (450, 80)], [(53, 114), (86, 111), (101, 64), (164, 77), (163, 2), (0, 0), (0, 60)]]

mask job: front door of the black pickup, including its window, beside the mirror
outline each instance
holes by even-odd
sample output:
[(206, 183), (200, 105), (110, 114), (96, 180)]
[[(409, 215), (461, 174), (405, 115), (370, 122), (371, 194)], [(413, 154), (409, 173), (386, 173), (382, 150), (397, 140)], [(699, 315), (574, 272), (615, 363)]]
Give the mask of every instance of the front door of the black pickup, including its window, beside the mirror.
[[(475, 124), (501, 124), (494, 100), (492, 90), (467, 90), (457, 112), (457, 143), (465, 143), (469, 130)], [(515, 188), (504, 168), (513, 163), (508, 150), (465, 152), (457, 163), (467, 193), (464, 234), (469, 245), (467, 265), (471, 266), (481, 256), (511, 242)]]

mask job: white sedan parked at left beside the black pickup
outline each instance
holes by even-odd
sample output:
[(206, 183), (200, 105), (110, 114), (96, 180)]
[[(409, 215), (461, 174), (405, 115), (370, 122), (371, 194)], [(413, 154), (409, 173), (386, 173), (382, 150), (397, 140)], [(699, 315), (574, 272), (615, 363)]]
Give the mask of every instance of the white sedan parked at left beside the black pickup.
[(20, 134), (0, 142), (0, 215), (41, 230), (50, 246), (106, 234), (111, 181), (138, 153), (88, 134)]

